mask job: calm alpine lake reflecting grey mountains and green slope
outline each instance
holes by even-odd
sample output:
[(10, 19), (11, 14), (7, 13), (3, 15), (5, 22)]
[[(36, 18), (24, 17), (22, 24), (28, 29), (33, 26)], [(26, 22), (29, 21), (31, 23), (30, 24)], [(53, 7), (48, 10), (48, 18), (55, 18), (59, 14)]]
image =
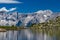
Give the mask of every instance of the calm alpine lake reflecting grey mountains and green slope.
[(60, 28), (22, 28), (0, 31), (0, 40), (60, 40)]

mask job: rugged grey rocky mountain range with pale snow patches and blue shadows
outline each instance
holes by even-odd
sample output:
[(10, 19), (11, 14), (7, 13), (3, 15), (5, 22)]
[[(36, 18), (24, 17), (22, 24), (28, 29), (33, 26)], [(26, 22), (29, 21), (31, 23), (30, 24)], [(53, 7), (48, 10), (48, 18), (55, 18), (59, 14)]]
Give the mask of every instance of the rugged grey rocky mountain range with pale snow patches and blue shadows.
[(30, 26), (33, 23), (42, 23), (49, 19), (60, 16), (60, 13), (54, 13), (51, 10), (40, 10), (34, 13), (22, 14), (18, 12), (0, 11), (1, 26)]

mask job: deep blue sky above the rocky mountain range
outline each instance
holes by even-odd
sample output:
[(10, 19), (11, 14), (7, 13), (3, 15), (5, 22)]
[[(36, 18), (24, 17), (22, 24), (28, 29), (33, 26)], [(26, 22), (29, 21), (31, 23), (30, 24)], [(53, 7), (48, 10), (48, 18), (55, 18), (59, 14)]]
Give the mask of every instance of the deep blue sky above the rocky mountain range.
[(16, 7), (16, 11), (21, 13), (32, 13), (38, 10), (47, 9), (52, 10), (54, 12), (60, 12), (60, 0), (11, 0), (11, 1), (13, 1), (13, 3), (0, 2), (0, 8), (6, 7), (7, 9), (10, 9)]

